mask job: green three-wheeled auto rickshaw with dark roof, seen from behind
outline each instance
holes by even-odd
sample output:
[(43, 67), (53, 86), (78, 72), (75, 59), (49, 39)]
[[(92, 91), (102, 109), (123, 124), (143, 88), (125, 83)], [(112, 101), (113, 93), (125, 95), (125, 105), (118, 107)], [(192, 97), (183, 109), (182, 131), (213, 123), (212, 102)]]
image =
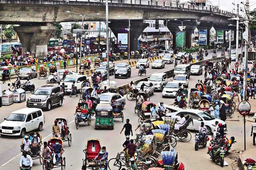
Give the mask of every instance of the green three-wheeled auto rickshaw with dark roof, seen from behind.
[(95, 129), (100, 127), (110, 127), (114, 129), (113, 109), (110, 104), (98, 104), (95, 109)]

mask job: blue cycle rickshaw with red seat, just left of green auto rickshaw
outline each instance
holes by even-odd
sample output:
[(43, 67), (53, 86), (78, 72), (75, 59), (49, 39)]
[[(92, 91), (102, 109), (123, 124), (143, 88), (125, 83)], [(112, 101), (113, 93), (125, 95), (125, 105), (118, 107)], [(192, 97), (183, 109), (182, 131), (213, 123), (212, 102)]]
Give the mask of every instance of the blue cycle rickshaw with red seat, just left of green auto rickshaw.
[(88, 109), (88, 103), (82, 102), (80, 104), (81, 104), (82, 110), (76, 110), (76, 113), (75, 113), (75, 124), (77, 129), (79, 128), (79, 123), (81, 122), (84, 122), (84, 123), (87, 122), (89, 126), (92, 121), (91, 117), (93, 116), (90, 113), (91, 111)]

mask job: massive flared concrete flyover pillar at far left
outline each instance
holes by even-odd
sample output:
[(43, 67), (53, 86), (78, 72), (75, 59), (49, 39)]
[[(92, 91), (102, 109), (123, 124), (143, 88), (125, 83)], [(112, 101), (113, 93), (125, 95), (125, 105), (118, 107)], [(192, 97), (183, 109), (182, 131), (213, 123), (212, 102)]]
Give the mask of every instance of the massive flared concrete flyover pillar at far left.
[(47, 56), (47, 44), (55, 27), (50, 23), (42, 25), (21, 25), (14, 27), (22, 45), (22, 54), (26, 51), (34, 53), (39, 59)]

